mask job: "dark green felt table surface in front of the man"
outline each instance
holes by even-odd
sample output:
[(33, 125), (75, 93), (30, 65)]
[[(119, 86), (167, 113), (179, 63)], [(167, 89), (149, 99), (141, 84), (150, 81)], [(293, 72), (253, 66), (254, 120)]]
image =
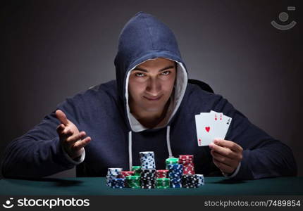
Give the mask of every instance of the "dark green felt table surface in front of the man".
[(1, 179), (0, 195), (66, 195), (66, 196), (146, 196), (146, 195), (197, 195), (197, 196), (252, 196), (252, 195), (303, 195), (303, 177), (230, 181), (224, 177), (205, 177), (199, 188), (167, 189), (114, 189), (106, 186), (104, 177), (70, 177), (62, 179)]

